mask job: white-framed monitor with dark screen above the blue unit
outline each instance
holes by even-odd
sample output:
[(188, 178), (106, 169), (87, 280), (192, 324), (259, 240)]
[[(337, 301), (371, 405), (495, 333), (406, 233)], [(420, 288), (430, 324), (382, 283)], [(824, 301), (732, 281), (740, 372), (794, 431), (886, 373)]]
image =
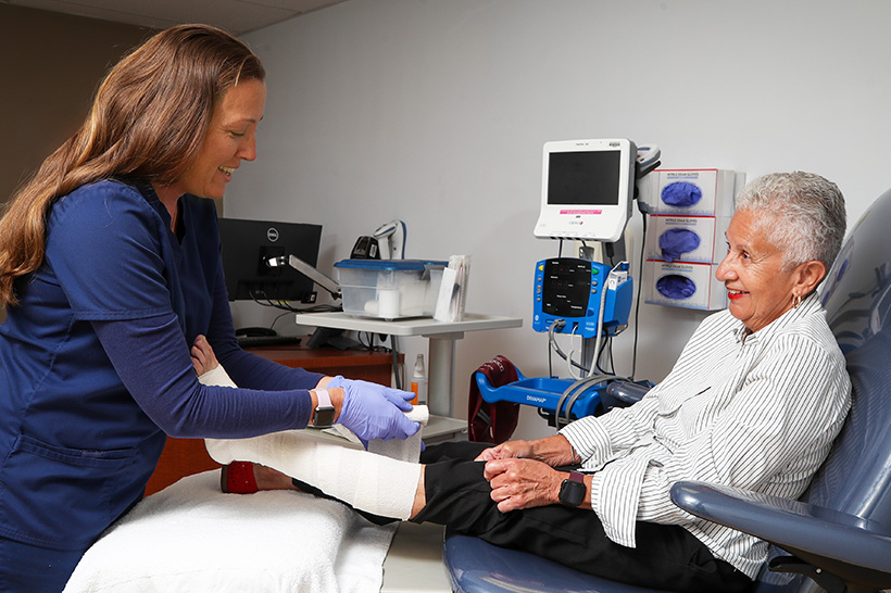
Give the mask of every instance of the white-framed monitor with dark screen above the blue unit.
[(545, 142), (535, 236), (618, 241), (631, 216), (636, 157), (624, 138)]

